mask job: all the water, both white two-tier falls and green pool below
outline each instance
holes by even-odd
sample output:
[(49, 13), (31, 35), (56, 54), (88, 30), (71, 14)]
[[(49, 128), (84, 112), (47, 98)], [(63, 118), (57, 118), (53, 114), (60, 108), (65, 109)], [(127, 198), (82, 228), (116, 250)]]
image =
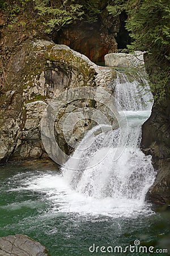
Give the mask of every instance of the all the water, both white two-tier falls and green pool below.
[[(125, 249), (136, 245), (135, 240), (143, 246), (154, 246), (154, 251), (169, 249), (169, 212), (155, 212), (145, 201), (155, 171), (151, 156), (145, 156), (139, 145), (141, 125), (150, 115), (152, 103), (148, 100), (152, 96), (147, 93), (136, 97), (139, 82), (128, 81), (124, 74), (114, 82), (115, 97), (124, 110), (129, 130), (120, 158), (113, 161), (121, 138), (117, 129), (104, 137), (98, 134), (83, 151), (76, 148), (73, 155), (78, 160), (73, 163), (70, 158), (61, 170), (43, 164), (31, 167), (29, 163), (0, 166), (1, 237), (26, 234), (45, 245), (52, 256), (150, 255), (89, 250), (94, 244)], [(124, 132), (126, 135), (123, 127)], [(103, 157), (105, 151), (108, 154)], [(69, 166), (80, 167), (80, 171), (69, 170)]]

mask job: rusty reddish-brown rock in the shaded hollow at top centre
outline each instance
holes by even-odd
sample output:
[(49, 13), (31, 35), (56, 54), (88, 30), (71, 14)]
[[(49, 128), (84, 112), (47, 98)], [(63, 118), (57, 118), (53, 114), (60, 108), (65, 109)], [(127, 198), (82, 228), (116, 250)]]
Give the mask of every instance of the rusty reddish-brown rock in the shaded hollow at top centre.
[(116, 40), (109, 35), (101, 20), (94, 23), (80, 22), (58, 31), (54, 43), (65, 44), (86, 55), (94, 63), (104, 63), (104, 55), (116, 49)]

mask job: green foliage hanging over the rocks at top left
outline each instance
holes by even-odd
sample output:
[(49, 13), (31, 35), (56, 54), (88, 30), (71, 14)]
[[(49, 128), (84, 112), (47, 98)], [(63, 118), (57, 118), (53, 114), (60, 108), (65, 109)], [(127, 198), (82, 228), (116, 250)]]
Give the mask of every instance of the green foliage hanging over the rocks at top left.
[[(59, 30), (61, 27), (73, 23), (75, 20), (82, 19), (84, 11), (82, 5), (75, 3), (74, 0), (64, 0), (63, 3), (59, 1), (49, 0), (16, 0), (12, 1), (0, 0), (0, 9), (6, 16), (6, 23), (8, 27), (12, 28), (12, 24), (18, 22), (20, 14), (27, 12), (28, 3), (31, 5), (33, 13), (37, 13), (44, 20), (45, 32), (52, 32)], [(22, 23), (20, 23), (22, 26)]]

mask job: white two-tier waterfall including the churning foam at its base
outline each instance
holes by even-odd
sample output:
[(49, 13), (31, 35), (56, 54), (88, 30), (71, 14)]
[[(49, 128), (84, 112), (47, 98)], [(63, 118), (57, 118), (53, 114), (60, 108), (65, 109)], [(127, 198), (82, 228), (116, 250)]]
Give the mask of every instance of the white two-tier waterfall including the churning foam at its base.
[[(130, 217), (151, 212), (145, 203), (145, 196), (154, 182), (155, 171), (151, 156), (145, 156), (139, 144), (142, 124), (151, 113), (152, 102), (149, 100), (152, 95), (149, 92), (143, 94), (138, 81), (129, 82), (122, 74), (118, 75), (115, 83), (115, 97), (124, 110), (129, 126), (128, 143), (120, 158), (113, 161), (120, 138), (120, 129), (116, 129), (104, 136), (97, 135), (87, 149), (75, 150), (74, 156), (84, 156), (84, 160), (73, 162), (70, 158), (66, 166), (81, 170), (62, 168), (61, 175), (46, 174), (26, 182), (27, 189), (45, 192), (56, 205), (58, 213)], [(84, 143), (83, 139), (80, 147)], [(107, 156), (100, 162), (107, 150)], [(90, 160), (86, 159), (87, 155)], [(88, 168), (93, 162), (99, 164)]]

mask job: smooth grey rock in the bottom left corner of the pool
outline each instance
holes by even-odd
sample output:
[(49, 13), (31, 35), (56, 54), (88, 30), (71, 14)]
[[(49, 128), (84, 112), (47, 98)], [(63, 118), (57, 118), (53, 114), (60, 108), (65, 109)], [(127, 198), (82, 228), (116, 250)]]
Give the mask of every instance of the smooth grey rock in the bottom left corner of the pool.
[(23, 235), (0, 237), (1, 256), (50, 256), (45, 246)]

